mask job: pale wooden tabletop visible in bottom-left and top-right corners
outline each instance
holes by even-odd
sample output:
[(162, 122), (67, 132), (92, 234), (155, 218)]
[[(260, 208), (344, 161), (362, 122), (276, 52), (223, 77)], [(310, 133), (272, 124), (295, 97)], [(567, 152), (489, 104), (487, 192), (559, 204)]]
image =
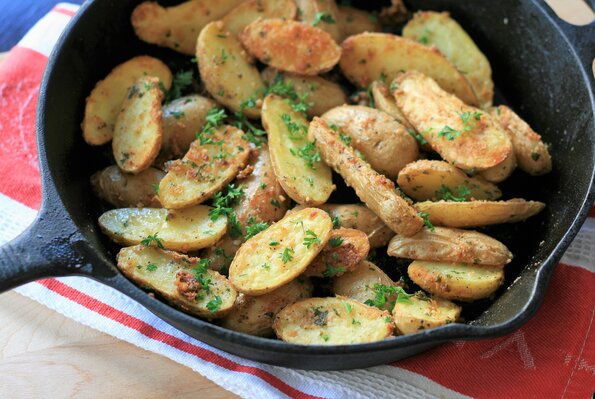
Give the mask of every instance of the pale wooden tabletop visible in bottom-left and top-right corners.
[[(583, 25), (593, 20), (582, 0), (546, 2), (569, 22)], [(3, 58), (0, 54), (0, 62)], [(0, 398), (132, 395), (237, 397), (185, 366), (76, 323), (15, 292), (0, 295)]]

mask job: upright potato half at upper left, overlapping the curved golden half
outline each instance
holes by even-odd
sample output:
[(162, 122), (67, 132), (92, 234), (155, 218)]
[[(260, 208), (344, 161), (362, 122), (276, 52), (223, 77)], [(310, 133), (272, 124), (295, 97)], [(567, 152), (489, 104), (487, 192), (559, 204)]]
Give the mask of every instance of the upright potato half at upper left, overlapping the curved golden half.
[(157, 158), (163, 137), (159, 78), (144, 76), (128, 90), (116, 118), (112, 149), (124, 172), (140, 173)]

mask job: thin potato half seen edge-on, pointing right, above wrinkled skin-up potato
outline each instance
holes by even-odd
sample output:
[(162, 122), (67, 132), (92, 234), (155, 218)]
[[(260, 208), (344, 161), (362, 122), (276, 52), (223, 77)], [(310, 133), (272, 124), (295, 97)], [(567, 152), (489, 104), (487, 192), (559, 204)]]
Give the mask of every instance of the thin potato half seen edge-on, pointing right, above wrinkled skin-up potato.
[(437, 226), (481, 227), (522, 222), (541, 212), (545, 204), (514, 198), (508, 201), (424, 201), (414, 207), (428, 213), (430, 222)]

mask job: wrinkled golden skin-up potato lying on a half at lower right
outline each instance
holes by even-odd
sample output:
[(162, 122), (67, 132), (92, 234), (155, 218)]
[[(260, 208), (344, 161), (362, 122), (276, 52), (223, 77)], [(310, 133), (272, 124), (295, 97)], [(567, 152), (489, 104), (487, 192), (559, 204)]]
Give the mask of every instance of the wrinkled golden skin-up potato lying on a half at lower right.
[(435, 227), (411, 237), (396, 235), (388, 244), (390, 256), (406, 259), (459, 262), (504, 267), (512, 253), (504, 244), (471, 230)]

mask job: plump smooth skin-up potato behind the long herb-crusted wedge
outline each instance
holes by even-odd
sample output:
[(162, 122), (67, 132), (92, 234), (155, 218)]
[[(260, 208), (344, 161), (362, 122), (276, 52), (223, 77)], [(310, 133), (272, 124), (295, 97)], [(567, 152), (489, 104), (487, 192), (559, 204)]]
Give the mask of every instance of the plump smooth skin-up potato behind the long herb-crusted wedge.
[(322, 115), (351, 137), (370, 166), (390, 179), (396, 179), (405, 165), (419, 155), (416, 140), (390, 115), (361, 105), (343, 105)]

